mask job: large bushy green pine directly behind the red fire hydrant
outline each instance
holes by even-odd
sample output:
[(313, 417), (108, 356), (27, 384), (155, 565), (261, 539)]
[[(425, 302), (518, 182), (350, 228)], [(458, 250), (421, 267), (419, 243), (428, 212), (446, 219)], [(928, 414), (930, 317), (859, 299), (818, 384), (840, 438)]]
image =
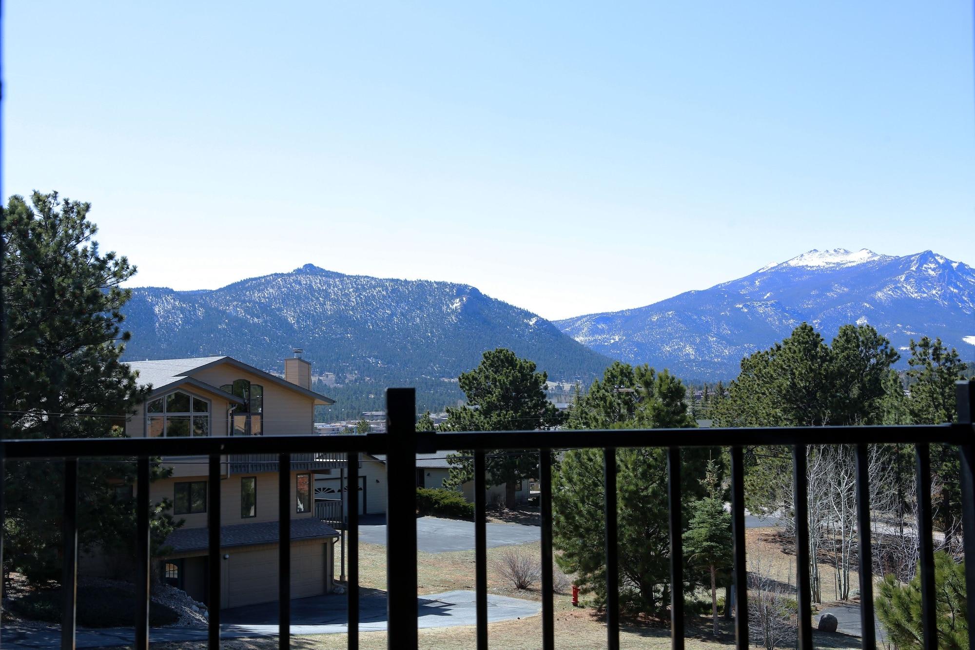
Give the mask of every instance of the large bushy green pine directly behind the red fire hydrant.
[[(667, 371), (614, 363), (572, 404), (573, 428), (694, 427), (683, 383)], [(659, 616), (670, 602), (667, 453), (662, 448), (619, 449), (618, 539), (621, 606)], [(683, 508), (704, 490), (698, 477), (717, 450), (683, 450)], [(569, 450), (553, 472), (556, 561), (578, 584), (605, 602), (603, 452)]]

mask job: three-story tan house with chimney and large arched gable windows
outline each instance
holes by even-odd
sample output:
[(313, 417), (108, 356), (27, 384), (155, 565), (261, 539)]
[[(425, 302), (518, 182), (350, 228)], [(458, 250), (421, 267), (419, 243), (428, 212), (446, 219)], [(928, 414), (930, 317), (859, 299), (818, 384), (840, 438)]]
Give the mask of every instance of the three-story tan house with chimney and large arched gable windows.
[[(287, 435), (314, 432), (317, 404), (334, 401), (310, 389), (311, 364), (285, 360), (285, 379), (229, 356), (136, 361), (138, 382), (152, 392), (128, 421), (142, 436)], [(229, 455), (218, 486), (209, 485), (207, 459), (167, 457), (170, 478), (152, 483), (153, 503), (173, 504), (183, 525), (166, 541), (162, 576), (196, 600), (207, 593), (207, 493), (220, 490), (219, 606), (277, 599), (278, 463), (275, 455)], [(332, 544), (338, 533), (315, 517), (315, 475), (337, 475), (345, 463), (316, 454), (292, 455), (292, 597), (331, 591)]]

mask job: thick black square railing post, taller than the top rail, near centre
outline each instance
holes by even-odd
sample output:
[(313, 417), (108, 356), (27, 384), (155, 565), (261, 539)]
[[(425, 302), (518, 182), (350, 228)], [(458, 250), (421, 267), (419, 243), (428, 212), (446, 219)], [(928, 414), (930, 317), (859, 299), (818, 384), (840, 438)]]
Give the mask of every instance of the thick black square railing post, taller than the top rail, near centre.
[(416, 391), (386, 389), (386, 606), (390, 650), (415, 650)]

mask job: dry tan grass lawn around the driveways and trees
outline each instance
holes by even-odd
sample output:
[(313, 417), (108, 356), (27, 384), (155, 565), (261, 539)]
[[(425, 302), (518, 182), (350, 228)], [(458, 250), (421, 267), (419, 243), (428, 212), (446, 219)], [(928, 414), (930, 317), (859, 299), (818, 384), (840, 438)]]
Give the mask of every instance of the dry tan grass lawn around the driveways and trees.
[[(496, 561), (505, 552), (502, 548), (487, 549), (487, 589), (492, 593), (539, 600), (537, 589), (518, 591), (504, 584), (496, 569)], [(538, 543), (519, 545), (519, 550), (537, 554)], [(781, 541), (774, 537), (774, 530), (753, 529), (749, 531), (748, 548), (750, 552), (761, 552), (772, 567), (773, 577), (782, 583), (789, 581), (795, 585), (795, 557), (784, 551)], [(386, 587), (386, 548), (382, 545), (360, 545), (360, 584), (365, 589), (385, 589)], [(338, 567), (338, 548), (335, 553), (336, 572)], [(823, 575), (831, 570), (823, 566)], [(474, 589), (474, 551), (464, 550), (448, 553), (417, 553), (418, 591), (422, 594), (437, 593), (450, 589)], [(825, 589), (824, 589), (825, 591)], [(825, 593), (824, 593), (825, 595)], [(709, 617), (696, 617), (688, 620), (685, 647), (688, 650), (732, 647), (734, 634), (730, 621), (721, 622), (721, 635), (711, 634)], [(534, 650), (541, 646), (541, 617), (503, 621), (488, 626), (488, 638), (493, 648), (511, 650)], [(590, 607), (575, 608), (567, 594), (555, 596), (555, 633), (557, 648), (599, 648), (605, 647), (606, 629), (602, 617)], [(471, 626), (456, 628), (435, 628), (419, 630), (421, 648), (472, 648), (475, 645), (475, 629)], [(385, 648), (385, 632), (368, 632), (361, 635), (360, 647)], [(276, 648), (276, 637), (254, 639), (235, 639), (224, 641), (222, 647), (231, 650), (270, 650)], [(292, 637), (292, 647), (306, 650), (325, 650), (346, 647), (345, 634), (320, 634), (314, 636)], [(203, 643), (153, 644), (160, 650), (202, 650)], [(660, 649), (670, 647), (670, 630), (666, 626), (624, 622), (620, 628), (620, 647)], [(817, 648), (855, 648), (859, 639), (843, 634), (817, 634)]]

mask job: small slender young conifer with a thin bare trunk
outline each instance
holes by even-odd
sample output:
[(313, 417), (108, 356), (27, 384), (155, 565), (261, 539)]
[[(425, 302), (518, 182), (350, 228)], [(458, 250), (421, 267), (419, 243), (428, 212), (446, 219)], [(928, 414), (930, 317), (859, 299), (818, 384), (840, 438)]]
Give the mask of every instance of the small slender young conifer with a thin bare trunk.
[[(724, 509), (718, 482), (718, 467), (708, 462), (702, 483), (707, 496), (690, 507), (690, 521), (683, 534), (684, 557), (691, 571), (705, 570), (711, 579), (711, 616), (718, 635), (719, 573), (731, 566), (731, 513)], [(728, 607), (730, 603), (725, 603)]]

